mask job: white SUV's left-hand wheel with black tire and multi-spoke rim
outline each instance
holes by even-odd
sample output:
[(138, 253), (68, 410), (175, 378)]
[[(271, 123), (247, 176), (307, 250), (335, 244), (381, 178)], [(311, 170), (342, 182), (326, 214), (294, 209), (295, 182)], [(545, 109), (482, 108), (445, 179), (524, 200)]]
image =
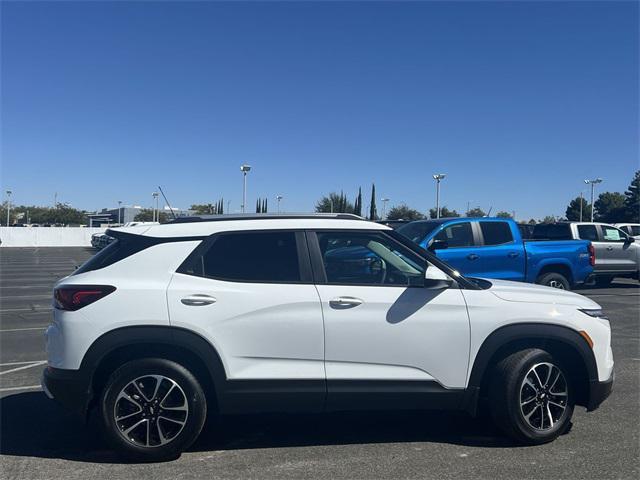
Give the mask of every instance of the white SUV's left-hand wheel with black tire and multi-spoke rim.
[[(160, 377), (164, 379), (158, 383)], [(207, 401), (197, 378), (182, 365), (161, 358), (125, 363), (109, 377), (100, 397), (105, 438), (128, 460), (179, 457), (198, 438), (206, 417)], [(140, 425), (125, 437), (124, 431), (136, 423)]]

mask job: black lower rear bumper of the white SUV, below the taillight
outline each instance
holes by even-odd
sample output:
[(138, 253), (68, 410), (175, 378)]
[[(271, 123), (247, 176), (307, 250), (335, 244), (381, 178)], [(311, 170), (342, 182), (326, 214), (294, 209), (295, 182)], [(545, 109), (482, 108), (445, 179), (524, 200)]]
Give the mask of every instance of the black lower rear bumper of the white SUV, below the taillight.
[(88, 379), (79, 370), (47, 367), (42, 373), (41, 383), (49, 398), (86, 419), (92, 394)]

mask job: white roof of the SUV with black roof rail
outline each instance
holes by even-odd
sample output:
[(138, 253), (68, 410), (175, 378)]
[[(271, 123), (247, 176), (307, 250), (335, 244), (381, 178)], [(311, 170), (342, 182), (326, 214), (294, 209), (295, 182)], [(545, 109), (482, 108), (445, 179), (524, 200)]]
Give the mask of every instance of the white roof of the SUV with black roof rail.
[(201, 237), (225, 231), (302, 228), (391, 230), (352, 214), (252, 214), (186, 217), (161, 225), (121, 227), (117, 231), (168, 238)]

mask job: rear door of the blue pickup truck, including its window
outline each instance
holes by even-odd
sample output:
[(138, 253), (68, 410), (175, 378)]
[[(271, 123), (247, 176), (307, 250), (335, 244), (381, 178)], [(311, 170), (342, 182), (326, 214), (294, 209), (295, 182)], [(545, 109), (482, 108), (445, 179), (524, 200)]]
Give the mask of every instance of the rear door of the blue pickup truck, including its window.
[(523, 281), (526, 258), (521, 241), (513, 236), (511, 224), (501, 220), (482, 220), (480, 266), (489, 278)]

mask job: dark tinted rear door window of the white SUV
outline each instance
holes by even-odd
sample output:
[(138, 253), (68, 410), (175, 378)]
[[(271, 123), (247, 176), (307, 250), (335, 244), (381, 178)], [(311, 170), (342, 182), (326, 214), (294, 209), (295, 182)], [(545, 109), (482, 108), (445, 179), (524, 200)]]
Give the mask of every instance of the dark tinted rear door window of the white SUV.
[(296, 234), (217, 234), (194, 252), (178, 272), (232, 282), (299, 283)]

